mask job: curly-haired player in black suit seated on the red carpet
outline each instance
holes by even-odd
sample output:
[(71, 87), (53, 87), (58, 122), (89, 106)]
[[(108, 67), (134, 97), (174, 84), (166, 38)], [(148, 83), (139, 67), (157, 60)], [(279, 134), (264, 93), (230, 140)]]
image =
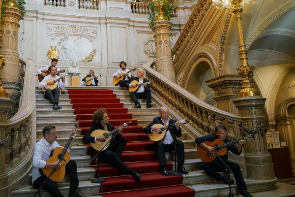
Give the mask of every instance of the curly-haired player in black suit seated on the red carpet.
[[(109, 117), (107, 111), (104, 108), (96, 110), (92, 115), (93, 125), (90, 127), (89, 131), (84, 135), (83, 141), (86, 143), (94, 143), (97, 141), (105, 141), (104, 136), (90, 136), (91, 132), (94, 130), (104, 130), (104, 131), (113, 131), (114, 126), (109, 124)], [(109, 164), (116, 165), (124, 174), (131, 174), (134, 180), (141, 179), (141, 175), (130, 169), (126, 164), (122, 162), (120, 156), (123, 152), (124, 147), (126, 146), (127, 139), (122, 137), (122, 128), (119, 128), (119, 132), (114, 134), (113, 139), (111, 140), (109, 146), (104, 147), (99, 153), (99, 158), (108, 162)], [(96, 155), (97, 151), (91, 147), (90, 156), (93, 158)]]

